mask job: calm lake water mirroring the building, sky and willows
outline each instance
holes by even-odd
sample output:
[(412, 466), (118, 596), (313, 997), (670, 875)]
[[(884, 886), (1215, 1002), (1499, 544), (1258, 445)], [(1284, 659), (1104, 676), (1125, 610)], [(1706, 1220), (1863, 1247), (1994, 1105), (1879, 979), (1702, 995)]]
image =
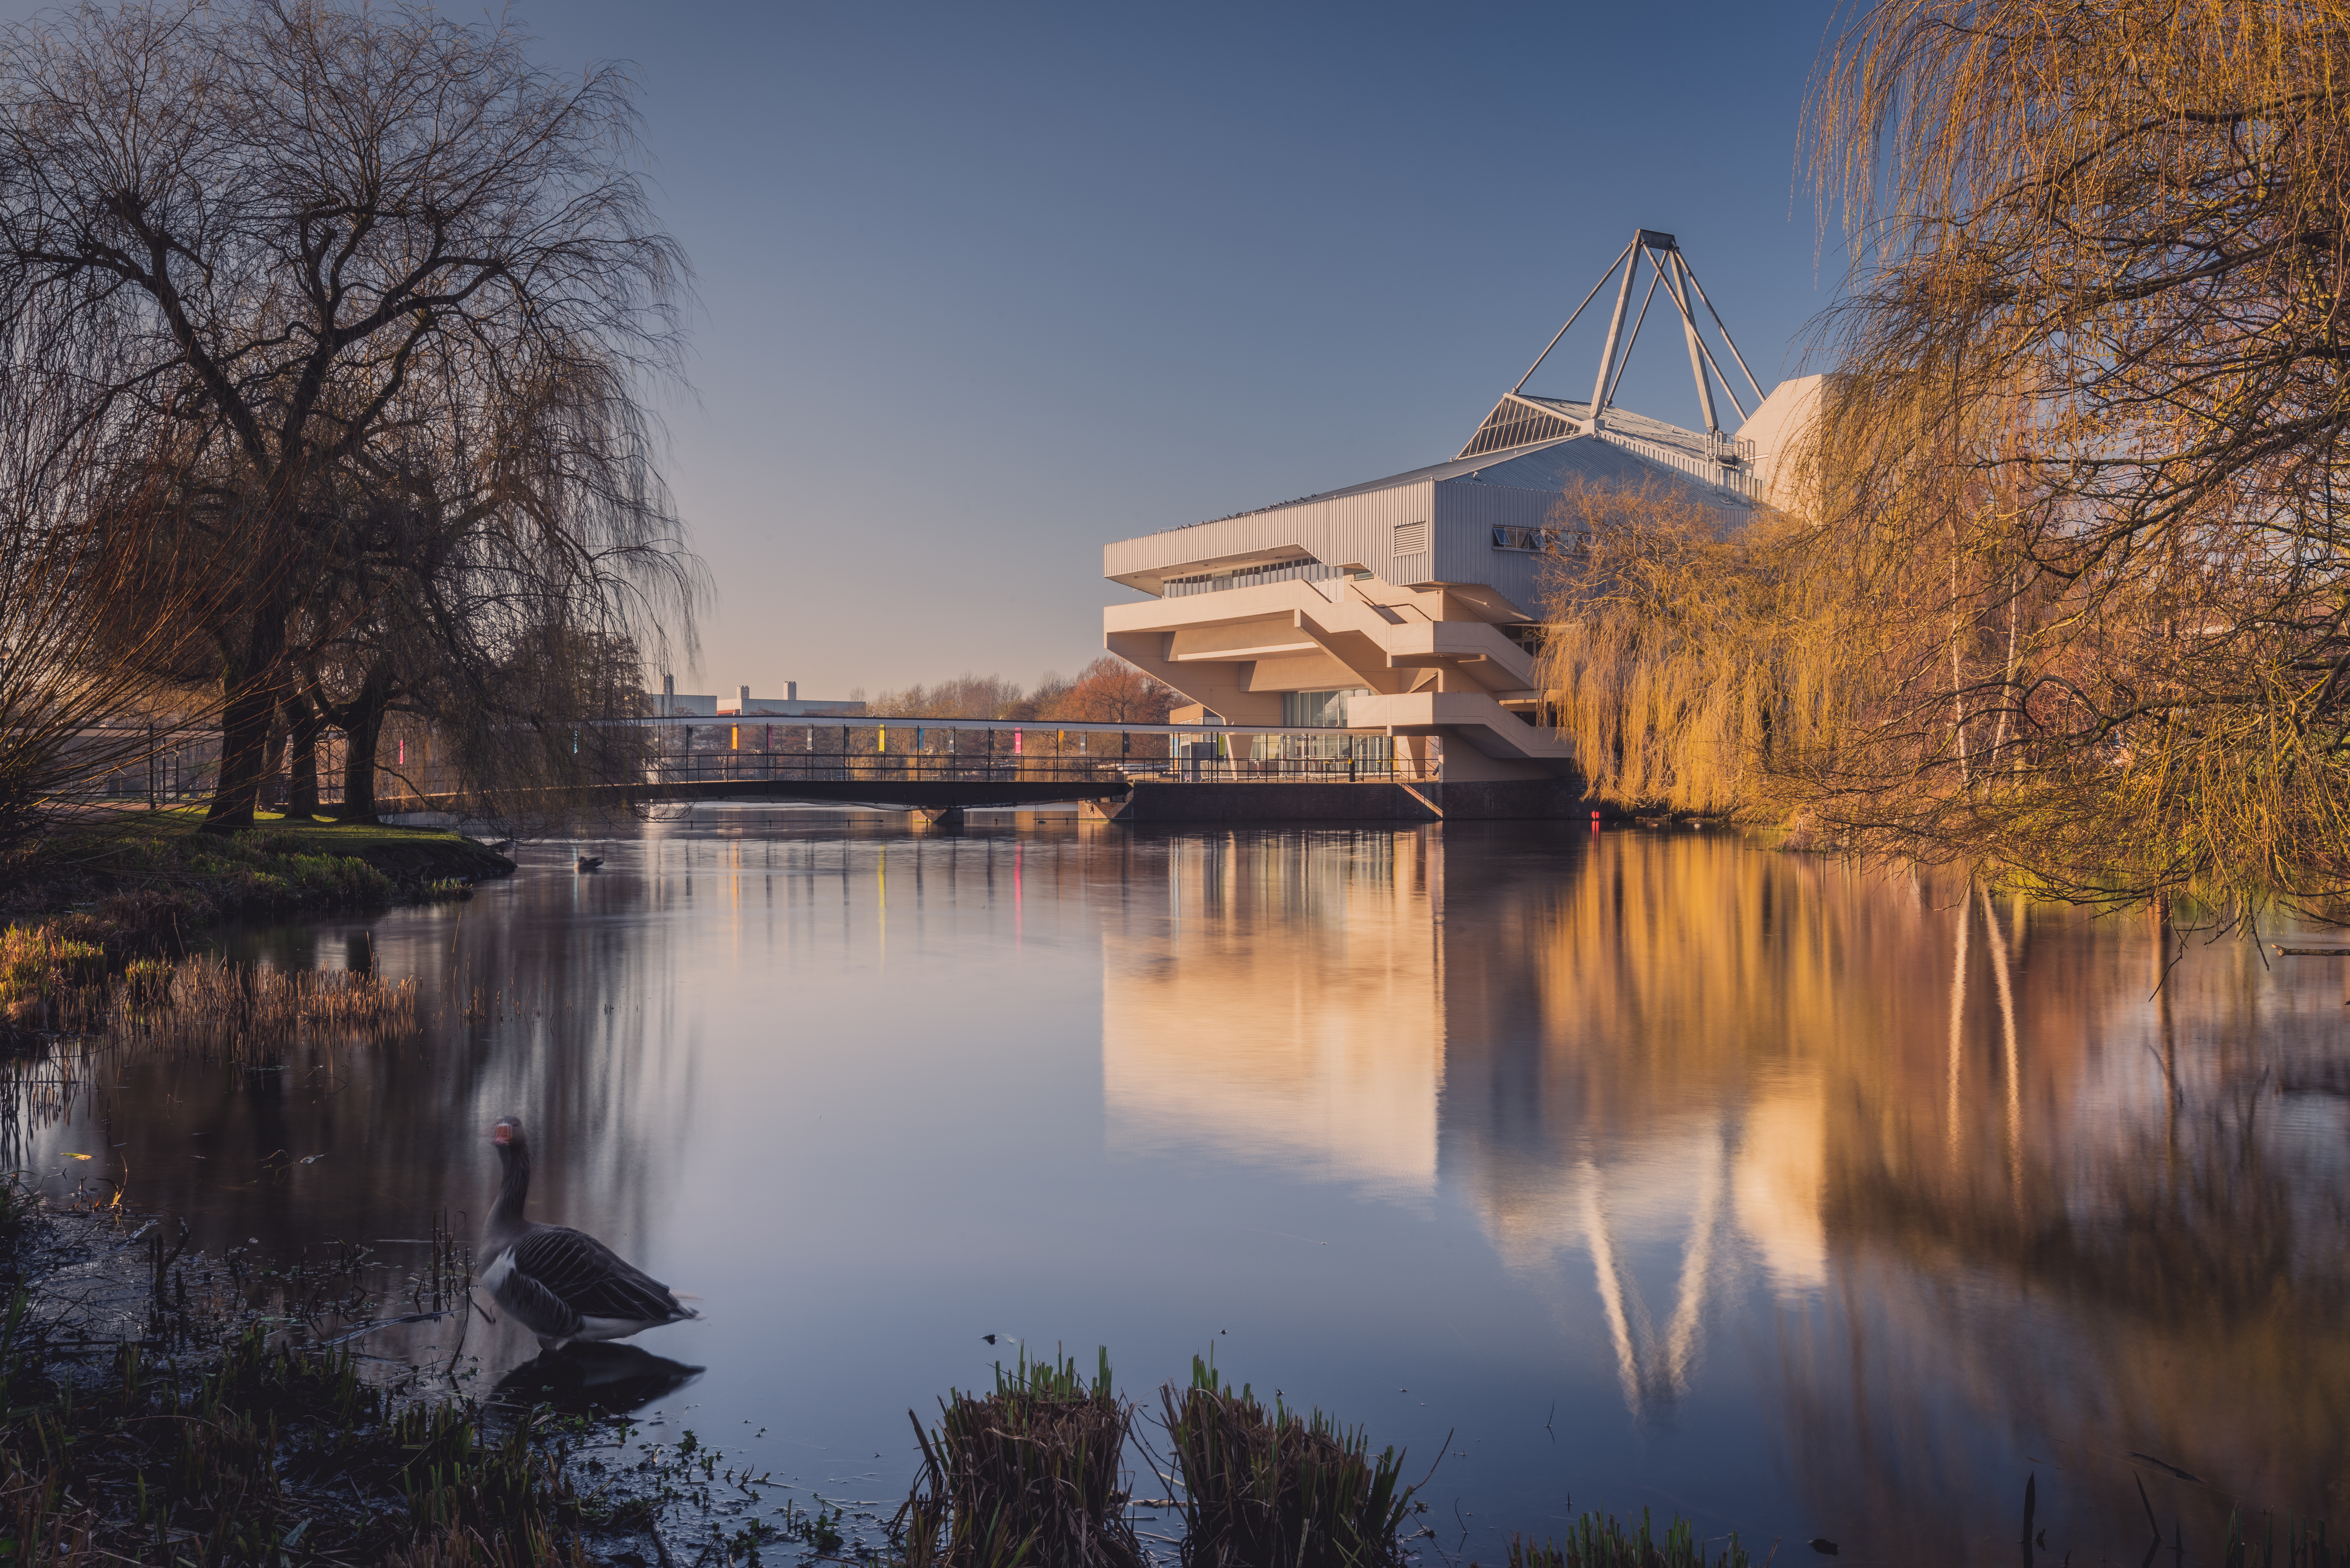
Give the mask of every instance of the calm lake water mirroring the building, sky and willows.
[(1584, 1507), (2012, 1556), (2026, 1474), (2047, 1561), (2134, 1563), (2131, 1476), (2190, 1561), (2230, 1505), (2350, 1526), (2338, 964), (2157, 992), (2143, 919), (1572, 825), (604, 849), (249, 938), (418, 976), (428, 1041), (134, 1065), (35, 1164), (214, 1248), (409, 1239), (517, 1112), (538, 1218), (707, 1298), (639, 1340), (707, 1368), (665, 1432), (825, 1497), (893, 1505), (907, 1408), (1018, 1340), (1445, 1453), (1488, 1563)]

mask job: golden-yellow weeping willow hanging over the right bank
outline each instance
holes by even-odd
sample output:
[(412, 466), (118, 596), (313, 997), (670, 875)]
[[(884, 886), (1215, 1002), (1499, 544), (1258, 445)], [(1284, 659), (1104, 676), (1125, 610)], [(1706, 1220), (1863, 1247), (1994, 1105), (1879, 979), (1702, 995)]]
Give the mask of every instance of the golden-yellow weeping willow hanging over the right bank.
[(1798, 515), (1636, 654), (1737, 717), (1622, 783), (2073, 898), (2341, 898), (2350, 5), (1889, 0), (1810, 132), (1854, 282)]

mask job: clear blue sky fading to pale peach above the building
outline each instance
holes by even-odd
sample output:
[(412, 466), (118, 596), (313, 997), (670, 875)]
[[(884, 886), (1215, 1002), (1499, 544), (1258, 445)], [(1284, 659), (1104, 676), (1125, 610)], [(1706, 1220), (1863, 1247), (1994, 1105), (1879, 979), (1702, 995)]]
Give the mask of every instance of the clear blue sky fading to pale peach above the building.
[[(1636, 226), (1765, 388), (1840, 277), (1819, 2), (517, 14), (637, 66), (698, 270), (691, 691), (1076, 670), (1104, 541), (1452, 456)], [(1532, 390), (1596, 357), (1577, 324)], [(1697, 418), (1657, 322), (1624, 386)]]

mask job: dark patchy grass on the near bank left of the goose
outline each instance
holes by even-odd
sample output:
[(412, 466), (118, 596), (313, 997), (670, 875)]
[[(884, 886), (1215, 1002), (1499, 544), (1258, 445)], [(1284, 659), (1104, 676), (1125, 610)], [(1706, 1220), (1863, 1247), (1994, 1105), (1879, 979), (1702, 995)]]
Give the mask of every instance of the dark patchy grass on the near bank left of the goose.
[[(588, 1540), (653, 1528), (651, 1505), (592, 1481), (602, 1462), (573, 1462), (583, 1441), (625, 1439), (625, 1422), (388, 1382), (383, 1359), (352, 1345), (383, 1321), (320, 1342), (322, 1319), (348, 1326), (374, 1305), (357, 1288), (376, 1267), (367, 1248), (221, 1269), (181, 1262), (186, 1229), (167, 1248), (150, 1227), (153, 1246), (132, 1248), (89, 1215), (54, 1222), (129, 1291), (94, 1321), (139, 1321), (122, 1312), (139, 1298), (150, 1312), (96, 1359), (80, 1307), (56, 1316), (16, 1291), (0, 1314), (0, 1563), (585, 1568)], [(465, 1312), (458, 1246), (435, 1246), (430, 1279)]]

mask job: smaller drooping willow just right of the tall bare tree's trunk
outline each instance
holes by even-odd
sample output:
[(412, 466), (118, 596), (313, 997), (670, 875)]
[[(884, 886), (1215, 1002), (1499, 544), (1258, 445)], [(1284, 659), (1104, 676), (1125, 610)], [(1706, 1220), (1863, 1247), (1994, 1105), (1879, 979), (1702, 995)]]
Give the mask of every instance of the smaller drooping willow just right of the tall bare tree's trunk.
[[(376, 813), (388, 722), (430, 738), (407, 776), (494, 820), (634, 783), (644, 658), (693, 656), (707, 597), (630, 367), (545, 336), (522, 374), (418, 381), (407, 440), (369, 454), (355, 548), (298, 658), (289, 729), (343, 733), (345, 820)], [(454, 797), (454, 799), (451, 799)]]

